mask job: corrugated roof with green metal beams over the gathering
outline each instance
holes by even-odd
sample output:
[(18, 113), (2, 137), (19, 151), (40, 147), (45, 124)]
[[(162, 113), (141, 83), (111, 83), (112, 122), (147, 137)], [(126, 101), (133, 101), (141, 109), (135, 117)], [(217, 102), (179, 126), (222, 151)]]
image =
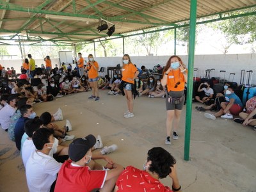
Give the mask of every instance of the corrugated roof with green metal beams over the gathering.
[[(255, 6), (256, 0), (198, 0), (196, 18), (225, 19)], [(0, 0), (0, 42), (92, 42), (108, 37), (97, 30), (102, 20), (115, 25), (113, 37), (122, 37), (156, 26), (179, 28), (189, 12), (189, 0)]]

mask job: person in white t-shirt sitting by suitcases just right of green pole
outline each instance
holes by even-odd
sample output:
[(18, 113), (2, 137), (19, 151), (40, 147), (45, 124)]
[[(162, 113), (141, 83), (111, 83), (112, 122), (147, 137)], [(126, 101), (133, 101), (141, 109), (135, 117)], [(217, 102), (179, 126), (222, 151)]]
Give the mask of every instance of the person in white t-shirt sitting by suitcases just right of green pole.
[(195, 99), (198, 102), (208, 104), (209, 100), (211, 100), (213, 98), (214, 92), (213, 92), (212, 88), (210, 88), (210, 84), (208, 82), (201, 83), (200, 86), (198, 87), (197, 91), (199, 92), (199, 94), (196, 95)]

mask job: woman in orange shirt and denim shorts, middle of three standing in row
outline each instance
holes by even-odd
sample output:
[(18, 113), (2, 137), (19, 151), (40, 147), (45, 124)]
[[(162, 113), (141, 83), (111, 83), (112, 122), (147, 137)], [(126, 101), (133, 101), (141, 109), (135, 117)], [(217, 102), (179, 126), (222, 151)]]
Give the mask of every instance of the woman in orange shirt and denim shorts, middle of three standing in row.
[(134, 86), (134, 79), (138, 77), (139, 71), (132, 64), (129, 54), (123, 56), (122, 66), (122, 87), (124, 88), (124, 94), (127, 99), (128, 111), (124, 113), (125, 118), (133, 117), (133, 99), (132, 99), (132, 87)]

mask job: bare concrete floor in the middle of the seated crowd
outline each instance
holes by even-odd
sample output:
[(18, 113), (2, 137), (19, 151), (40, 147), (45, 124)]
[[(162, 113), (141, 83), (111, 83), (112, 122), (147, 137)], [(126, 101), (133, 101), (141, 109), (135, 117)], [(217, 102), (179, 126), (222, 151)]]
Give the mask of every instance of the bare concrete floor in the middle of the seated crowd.
[[(83, 137), (100, 134), (104, 145), (116, 143), (118, 150), (109, 157), (124, 166), (143, 168), (147, 151), (163, 147), (177, 159), (177, 172), (183, 191), (256, 191), (256, 132), (232, 120), (208, 120), (193, 103), (190, 161), (184, 161), (182, 112), (179, 140), (165, 145), (166, 110), (164, 99), (140, 97), (134, 100), (134, 118), (126, 119), (125, 97), (100, 91), (100, 101), (88, 100), (90, 92), (67, 95), (52, 102), (35, 104), (37, 115), (44, 111), (63, 111), (70, 120), (70, 134)], [(64, 125), (65, 121), (57, 122)], [(65, 142), (68, 145), (70, 142)], [(19, 151), (7, 132), (0, 130), (0, 191), (28, 191)], [(170, 186), (170, 178), (161, 180)]]

